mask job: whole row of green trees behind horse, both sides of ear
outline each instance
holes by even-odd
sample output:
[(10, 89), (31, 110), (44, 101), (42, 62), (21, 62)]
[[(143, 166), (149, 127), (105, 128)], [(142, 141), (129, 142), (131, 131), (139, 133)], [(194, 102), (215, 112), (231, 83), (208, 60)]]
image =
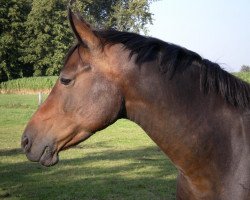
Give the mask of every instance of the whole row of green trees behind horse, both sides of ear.
[[(155, 0), (78, 0), (74, 8), (95, 28), (146, 32)], [(74, 42), (68, 0), (0, 1), (0, 82), (57, 75)]]

